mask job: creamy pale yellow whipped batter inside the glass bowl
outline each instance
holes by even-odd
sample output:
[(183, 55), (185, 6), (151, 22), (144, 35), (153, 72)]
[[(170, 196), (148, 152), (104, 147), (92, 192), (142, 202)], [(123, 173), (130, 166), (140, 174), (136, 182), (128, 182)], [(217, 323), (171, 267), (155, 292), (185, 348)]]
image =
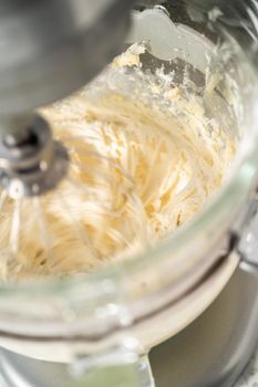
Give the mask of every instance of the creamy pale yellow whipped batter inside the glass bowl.
[(6, 200), (0, 280), (87, 272), (134, 257), (220, 188), (235, 140), (206, 116), (202, 96), (186, 95), (162, 70), (144, 74), (142, 52), (131, 49), (90, 87), (42, 109), (70, 149), (70, 172), (55, 191), (19, 203), (19, 236), (17, 205)]

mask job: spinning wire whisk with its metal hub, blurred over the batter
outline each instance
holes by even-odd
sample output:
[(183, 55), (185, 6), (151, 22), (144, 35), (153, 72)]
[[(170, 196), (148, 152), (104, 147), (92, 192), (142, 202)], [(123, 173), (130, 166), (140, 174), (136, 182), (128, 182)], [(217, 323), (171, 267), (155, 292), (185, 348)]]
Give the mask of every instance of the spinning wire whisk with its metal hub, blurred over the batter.
[(55, 140), (41, 116), (3, 124), (0, 281), (89, 271), (143, 243), (146, 223), (134, 184), (92, 145), (94, 134), (65, 138), (61, 127)]

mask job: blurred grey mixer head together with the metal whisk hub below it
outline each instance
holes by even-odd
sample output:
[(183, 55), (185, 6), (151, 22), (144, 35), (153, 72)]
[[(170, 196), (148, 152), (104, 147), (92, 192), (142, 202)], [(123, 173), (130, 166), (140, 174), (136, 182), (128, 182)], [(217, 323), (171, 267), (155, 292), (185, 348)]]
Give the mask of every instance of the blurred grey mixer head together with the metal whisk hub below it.
[(0, 184), (12, 197), (41, 195), (65, 175), (66, 150), (27, 112), (78, 90), (115, 56), (133, 2), (0, 0)]

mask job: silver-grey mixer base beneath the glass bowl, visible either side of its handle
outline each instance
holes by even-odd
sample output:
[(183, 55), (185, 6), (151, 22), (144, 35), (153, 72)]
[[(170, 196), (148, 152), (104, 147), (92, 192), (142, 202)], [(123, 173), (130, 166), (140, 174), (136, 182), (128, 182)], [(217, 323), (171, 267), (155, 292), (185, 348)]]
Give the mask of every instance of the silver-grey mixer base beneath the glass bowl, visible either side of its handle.
[[(231, 387), (258, 339), (258, 273), (242, 264), (214, 304), (190, 326), (153, 349), (157, 387)], [(66, 367), (0, 354), (1, 387), (71, 387)]]

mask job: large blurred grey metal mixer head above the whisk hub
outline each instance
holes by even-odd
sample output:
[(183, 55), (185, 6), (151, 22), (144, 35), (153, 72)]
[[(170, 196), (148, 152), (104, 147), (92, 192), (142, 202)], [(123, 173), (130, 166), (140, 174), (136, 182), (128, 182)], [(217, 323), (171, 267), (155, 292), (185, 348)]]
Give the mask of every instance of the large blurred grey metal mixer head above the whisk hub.
[(120, 52), (133, 0), (0, 0), (0, 116), (81, 87)]

